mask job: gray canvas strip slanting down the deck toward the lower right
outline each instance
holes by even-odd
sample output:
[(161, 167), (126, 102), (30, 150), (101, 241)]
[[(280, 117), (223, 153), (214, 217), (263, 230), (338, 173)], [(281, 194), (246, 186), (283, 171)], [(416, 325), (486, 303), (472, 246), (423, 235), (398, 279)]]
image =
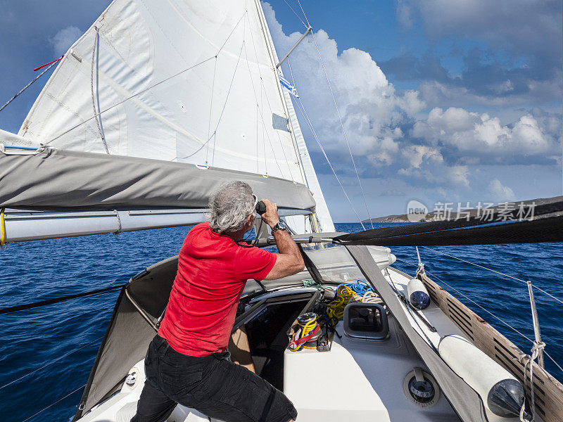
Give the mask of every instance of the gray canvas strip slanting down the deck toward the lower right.
[(426, 340), (415, 331), (415, 328), (412, 328), (397, 295), (393, 292), (383, 274), (381, 274), (381, 270), (377, 267), (369, 250), (367, 250), (365, 246), (347, 246), (346, 248), (367, 280), (374, 285), (391, 314), (393, 314), (401, 328), (403, 328), (403, 331), (422, 360), (424, 360), (426, 366), (430, 369), (432, 376), (436, 378), (445, 397), (448, 398), (448, 401), (462, 421), (488, 421), (483, 402), (481, 402), (479, 395), (469, 387), (462, 378), (457, 376), (457, 374), (445, 364), (438, 353), (426, 343)]

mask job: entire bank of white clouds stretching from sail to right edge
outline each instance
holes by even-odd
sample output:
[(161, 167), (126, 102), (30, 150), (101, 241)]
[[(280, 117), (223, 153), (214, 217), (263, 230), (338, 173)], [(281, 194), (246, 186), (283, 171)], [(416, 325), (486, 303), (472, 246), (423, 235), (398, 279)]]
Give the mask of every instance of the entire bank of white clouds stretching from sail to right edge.
[[(412, 8), (407, 0), (401, 4)], [(282, 55), (301, 34), (286, 35), (270, 4), (263, 7)], [(434, 192), (443, 186), (450, 196), (464, 195), (473, 185), (481, 188), (484, 183), (486, 188), (490, 180), (483, 181), (482, 174), (470, 171), (476, 165), (529, 164), (529, 157), (531, 162), (545, 162), (546, 156), (557, 155), (562, 137), (560, 115), (523, 112), (514, 123), (502, 124), (498, 117), (465, 108), (434, 107), (424, 113), (426, 103), (421, 98), (443, 104), (443, 98), (452, 95), (450, 87), (434, 82), (432, 87), (426, 84), (426, 91), (424, 85), (419, 90), (400, 91), (365, 51), (350, 48), (339, 53), (336, 41), (323, 30), (315, 32), (315, 38), (362, 177), (377, 179), (377, 183), (393, 179), (411, 188), (433, 188)], [(301, 42), (290, 60), (299, 94), (324, 148), (341, 177), (349, 177), (350, 186), (355, 185), (348, 148), (312, 37)], [(284, 70), (291, 79), (289, 69)], [(497, 89), (510, 91), (512, 81), (503, 80)], [(468, 91), (455, 95), (467, 98)], [(482, 104), (488, 101), (485, 97), (473, 99)], [(506, 101), (499, 99), (498, 105)], [(303, 132), (309, 141), (308, 130)], [(312, 153), (317, 152), (315, 143), (308, 142), (308, 146)]]

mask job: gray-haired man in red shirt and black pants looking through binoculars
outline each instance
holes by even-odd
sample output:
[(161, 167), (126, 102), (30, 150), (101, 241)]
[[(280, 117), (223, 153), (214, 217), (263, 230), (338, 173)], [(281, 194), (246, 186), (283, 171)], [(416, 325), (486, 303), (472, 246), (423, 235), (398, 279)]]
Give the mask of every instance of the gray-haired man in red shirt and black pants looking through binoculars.
[(297, 411), (267, 381), (229, 359), (236, 307), (248, 279), (273, 280), (304, 267), (279, 224), (277, 206), (262, 200), (262, 220), (279, 253), (240, 243), (253, 226), (256, 198), (248, 184), (223, 184), (210, 198), (209, 223), (195, 226), (179, 252), (165, 317), (148, 347), (146, 381), (132, 422), (160, 422), (176, 404), (225, 422), (289, 422)]

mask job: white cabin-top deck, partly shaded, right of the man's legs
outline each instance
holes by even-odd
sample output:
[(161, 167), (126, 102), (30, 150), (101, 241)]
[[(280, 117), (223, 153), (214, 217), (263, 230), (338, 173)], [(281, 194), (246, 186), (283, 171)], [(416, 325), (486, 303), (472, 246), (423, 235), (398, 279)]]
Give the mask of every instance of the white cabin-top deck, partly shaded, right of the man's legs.
[(459, 421), (443, 395), (429, 408), (405, 397), (405, 376), (426, 366), (392, 318), (389, 331), (388, 340), (335, 337), (330, 352), (286, 350), (284, 392), (298, 421)]

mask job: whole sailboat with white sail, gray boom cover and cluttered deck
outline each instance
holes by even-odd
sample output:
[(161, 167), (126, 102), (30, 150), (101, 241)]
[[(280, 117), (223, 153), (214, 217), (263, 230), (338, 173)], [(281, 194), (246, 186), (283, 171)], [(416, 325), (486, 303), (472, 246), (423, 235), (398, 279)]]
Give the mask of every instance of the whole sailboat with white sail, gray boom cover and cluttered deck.
[[(562, 204), (514, 224), (336, 233), (281, 61), (258, 0), (114, 0), (18, 134), (0, 131), (2, 245), (196, 224), (210, 192), (246, 181), (277, 203), (306, 269), (247, 282), (229, 350), (284, 391), (298, 421), (563, 420), (539, 337), (522, 352), (422, 263), (394, 269), (388, 248), (562, 241)], [(274, 244), (255, 232), (255, 245)], [(134, 415), (176, 269), (170, 257), (120, 290), (73, 421)], [(180, 405), (167, 418), (209, 420)]]

